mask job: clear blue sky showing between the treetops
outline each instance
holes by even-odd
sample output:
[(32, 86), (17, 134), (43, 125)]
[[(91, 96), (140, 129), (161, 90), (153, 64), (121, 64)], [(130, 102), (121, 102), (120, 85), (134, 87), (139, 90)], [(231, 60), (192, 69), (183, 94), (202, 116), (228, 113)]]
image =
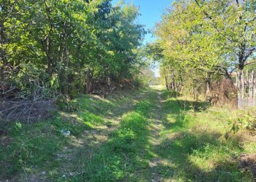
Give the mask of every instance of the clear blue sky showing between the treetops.
[[(113, 0), (112, 4), (116, 4), (120, 0)], [(140, 7), (140, 17), (138, 22), (145, 25), (146, 29), (152, 30), (155, 23), (159, 22), (162, 17), (162, 13), (165, 12), (167, 7), (170, 7), (172, 0), (125, 0), (126, 3), (132, 3)], [(145, 37), (144, 44), (154, 41), (154, 37), (151, 33), (148, 33)], [(152, 68), (156, 76), (159, 76), (159, 66)]]

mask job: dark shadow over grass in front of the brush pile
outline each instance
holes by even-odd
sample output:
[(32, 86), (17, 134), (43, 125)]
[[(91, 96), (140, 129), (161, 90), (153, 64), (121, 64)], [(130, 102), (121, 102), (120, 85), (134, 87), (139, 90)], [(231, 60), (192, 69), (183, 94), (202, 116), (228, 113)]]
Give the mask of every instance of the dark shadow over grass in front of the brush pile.
[[(85, 124), (75, 122), (75, 119), (63, 119), (62, 116), (34, 123), (33, 127), (24, 124), (19, 130), (10, 129), (10, 143), (3, 148), (0, 143), (0, 181), (33, 181), (30, 173), (36, 176), (42, 173), (38, 169), (46, 170), (60, 165), (59, 161), (53, 161), (56, 151), (67, 144), (67, 138), (61, 135), (61, 129), (64, 128), (72, 130), (72, 135), (79, 135), (89, 129)], [(37, 176), (39, 181), (45, 181), (45, 178), (43, 175)]]

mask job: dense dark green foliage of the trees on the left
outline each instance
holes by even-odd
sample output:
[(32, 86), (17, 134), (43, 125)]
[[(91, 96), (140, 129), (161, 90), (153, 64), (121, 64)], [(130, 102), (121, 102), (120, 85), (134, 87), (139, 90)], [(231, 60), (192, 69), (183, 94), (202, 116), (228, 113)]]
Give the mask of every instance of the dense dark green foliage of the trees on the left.
[(110, 0), (0, 4), (0, 80), (25, 95), (98, 92), (138, 73), (146, 33), (135, 22), (138, 7)]

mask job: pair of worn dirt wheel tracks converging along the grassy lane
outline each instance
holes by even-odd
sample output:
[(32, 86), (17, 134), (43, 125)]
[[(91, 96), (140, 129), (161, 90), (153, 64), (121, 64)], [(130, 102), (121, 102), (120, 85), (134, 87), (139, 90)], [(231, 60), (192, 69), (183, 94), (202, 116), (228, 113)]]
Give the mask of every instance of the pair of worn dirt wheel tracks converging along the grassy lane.
[[(60, 163), (60, 166), (56, 169), (59, 173), (59, 179), (77, 178), (77, 176), (80, 177), (83, 176), (83, 173), (87, 173), (86, 165), (95, 167), (93, 164), (96, 162), (95, 154), (100, 155), (99, 151), (105, 148), (105, 143), (110, 143), (111, 133), (115, 132), (118, 130), (118, 127), (120, 127), (123, 114), (135, 111), (135, 105), (143, 100), (150, 100), (150, 103), (154, 105), (151, 111), (148, 111), (150, 117), (147, 117), (149, 130), (148, 144), (150, 150), (156, 149), (162, 141), (160, 132), (164, 130), (164, 125), (162, 124), (163, 100), (161, 95), (162, 90), (158, 87), (151, 87), (151, 90), (140, 92), (140, 94), (135, 95), (129, 102), (124, 102), (121, 107), (114, 108), (110, 111), (110, 115), (106, 115), (103, 118), (109, 122), (108, 125), (104, 124), (99, 127), (94, 127), (93, 130), (85, 130), (79, 138), (69, 136), (69, 144), (64, 146), (64, 148), (56, 154), (54, 162)], [(138, 148), (138, 146), (136, 146), (136, 148)], [(145, 146), (143, 146), (143, 150), (146, 150)], [(146, 160), (143, 156), (141, 159)], [(90, 162), (91, 165), (85, 162)], [(160, 173), (163, 164), (165, 164), (165, 160), (155, 154), (148, 162), (149, 167), (144, 169), (138, 177), (151, 182), (164, 181)], [(140, 163), (138, 163), (138, 165), (140, 165)], [(37, 175), (31, 175), (29, 179), (34, 178), (34, 176), (44, 177), (40, 175), (40, 173), (41, 171), (39, 170)], [(37, 180), (39, 179), (43, 178), (37, 178)], [(46, 179), (44, 180), (46, 181)]]

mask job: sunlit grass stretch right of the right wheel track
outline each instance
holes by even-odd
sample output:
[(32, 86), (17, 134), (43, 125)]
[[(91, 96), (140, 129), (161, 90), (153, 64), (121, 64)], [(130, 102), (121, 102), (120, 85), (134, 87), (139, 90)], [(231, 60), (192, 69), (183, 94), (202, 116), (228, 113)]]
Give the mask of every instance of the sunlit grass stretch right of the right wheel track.
[(162, 142), (154, 151), (173, 172), (165, 174), (166, 180), (252, 181), (251, 173), (239, 169), (237, 159), (255, 143), (248, 144), (241, 135), (224, 138), (234, 111), (208, 108), (205, 103), (187, 104), (183, 98), (167, 98), (163, 114)]

